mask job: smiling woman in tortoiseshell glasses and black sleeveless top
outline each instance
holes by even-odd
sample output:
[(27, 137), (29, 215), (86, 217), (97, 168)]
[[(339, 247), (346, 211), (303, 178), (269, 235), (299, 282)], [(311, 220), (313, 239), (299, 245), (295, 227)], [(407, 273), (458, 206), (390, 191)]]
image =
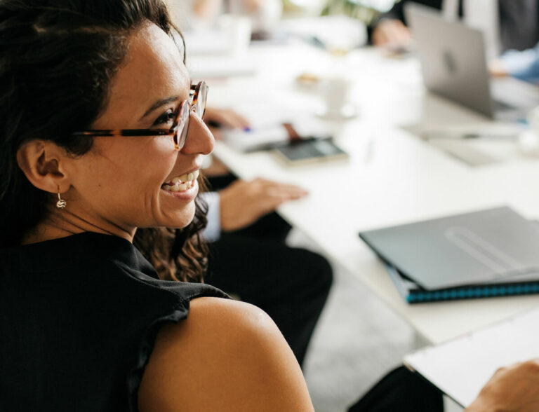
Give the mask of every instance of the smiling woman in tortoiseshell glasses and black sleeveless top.
[[(3, 410), (313, 411), (270, 317), (131, 243), (203, 272), (213, 136), (175, 40), (160, 0), (0, 1)], [(469, 411), (536, 410), (538, 369)]]

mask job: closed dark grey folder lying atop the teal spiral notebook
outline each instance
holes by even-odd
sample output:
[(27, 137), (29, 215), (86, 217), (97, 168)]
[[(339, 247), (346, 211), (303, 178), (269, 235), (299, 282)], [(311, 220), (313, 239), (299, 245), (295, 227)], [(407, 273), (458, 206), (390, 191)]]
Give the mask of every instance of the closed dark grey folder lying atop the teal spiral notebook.
[(539, 273), (539, 225), (509, 207), (364, 231), (359, 237), (430, 291), (511, 283), (514, 276)]

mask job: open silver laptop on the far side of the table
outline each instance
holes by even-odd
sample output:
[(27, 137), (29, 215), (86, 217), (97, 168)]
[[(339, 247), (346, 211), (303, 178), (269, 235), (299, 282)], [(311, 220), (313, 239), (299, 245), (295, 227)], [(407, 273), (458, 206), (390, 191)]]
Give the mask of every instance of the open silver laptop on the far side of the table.
[(480, 30), (446, 20), (437, 9), (404, 8), (427, 88), (490, 118), (514, 120), (539, 105), (539, 91), (514, 78), (491, 81)]

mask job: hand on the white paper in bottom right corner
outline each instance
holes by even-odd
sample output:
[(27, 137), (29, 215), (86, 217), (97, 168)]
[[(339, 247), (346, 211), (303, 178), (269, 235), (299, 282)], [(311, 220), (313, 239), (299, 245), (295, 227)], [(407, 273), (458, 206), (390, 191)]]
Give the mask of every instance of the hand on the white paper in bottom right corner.
[(539, 411), (539, 359), (500, 368), (465, 412)]

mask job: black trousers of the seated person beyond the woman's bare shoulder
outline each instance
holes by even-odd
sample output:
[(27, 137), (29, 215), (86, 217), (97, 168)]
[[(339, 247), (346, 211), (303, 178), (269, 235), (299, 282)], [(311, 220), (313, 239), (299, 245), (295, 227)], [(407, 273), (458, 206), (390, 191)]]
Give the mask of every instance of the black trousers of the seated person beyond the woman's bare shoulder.
[[(212, 188), (232, 179), (212, 179)], [(222, 233), (210, 245), (206, 282), (270, 315), (302, 365), (333, 272), (322, 256), (286, 246), (290, 229), (272, 213), (241, 231)]]

